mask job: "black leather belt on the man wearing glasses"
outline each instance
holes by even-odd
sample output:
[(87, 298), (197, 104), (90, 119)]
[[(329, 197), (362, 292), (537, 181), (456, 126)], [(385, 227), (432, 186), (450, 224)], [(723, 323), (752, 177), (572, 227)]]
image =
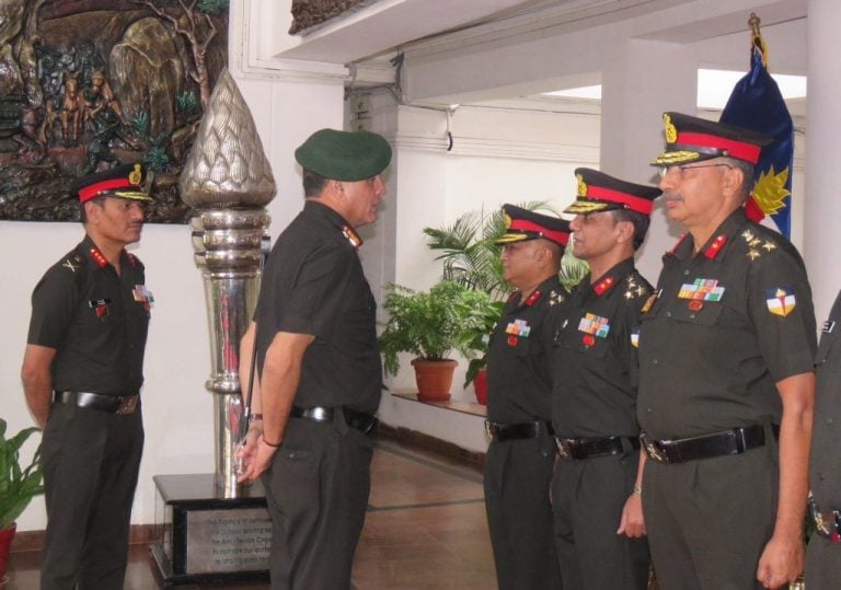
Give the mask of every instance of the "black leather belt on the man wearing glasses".
[(741, 426), (733, 430), (676, 440), (656, 440), (640, 435), (645, 454), (658, 463), (684, 463), (696, 459), (711, 459), (741, 454), (765, 444), (765, 427), (761, 424)]

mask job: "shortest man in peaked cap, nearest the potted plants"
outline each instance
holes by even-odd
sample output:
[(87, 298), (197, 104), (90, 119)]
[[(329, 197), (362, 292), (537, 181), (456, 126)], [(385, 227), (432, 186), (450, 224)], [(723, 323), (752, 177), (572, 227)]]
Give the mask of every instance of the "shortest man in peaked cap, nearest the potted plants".
[(496, 243), (503, 245), (503, 276), (516, 290), (487, 354), (485, 506), (499, 588), (556, 589), (546, 316), (566, 304), (557, 273), (569, 223), (514, 205), (503, 211), (506, 232)]

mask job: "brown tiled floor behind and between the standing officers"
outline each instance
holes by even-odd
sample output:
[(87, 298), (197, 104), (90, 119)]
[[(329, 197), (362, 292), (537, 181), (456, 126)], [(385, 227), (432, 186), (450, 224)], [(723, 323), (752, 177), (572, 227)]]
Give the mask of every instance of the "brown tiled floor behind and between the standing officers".
[[(496, 587), (477, 467), (378, 440), (368, 516), (356, 552), (357, 590)], [(13, 553), (9, 590), (38, 587), (38, 552)], [(133, 545), (127, 590), (159, 588), (147, 545)], [(201, 586), (262, 590), (267, 585)]]

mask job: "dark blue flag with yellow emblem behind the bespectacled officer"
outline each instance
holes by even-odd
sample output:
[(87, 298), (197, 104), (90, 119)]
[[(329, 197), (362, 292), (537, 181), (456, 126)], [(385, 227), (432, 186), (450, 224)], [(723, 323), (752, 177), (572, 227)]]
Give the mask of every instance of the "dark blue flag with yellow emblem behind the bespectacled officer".
[(794, 125), (776, 82), (768, 73), (768, 51), (759, 23), (751, 25), (750, 71), (736, 83), (719, 120), (773, 138), (762, 148), (745, 210), (754, 221), (771, 216), (780, 233), (788, 238)]

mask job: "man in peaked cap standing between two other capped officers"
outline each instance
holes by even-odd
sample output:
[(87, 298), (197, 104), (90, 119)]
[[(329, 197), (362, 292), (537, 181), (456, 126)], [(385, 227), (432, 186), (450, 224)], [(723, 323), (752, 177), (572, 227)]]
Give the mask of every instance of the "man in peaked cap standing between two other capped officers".
[(648, 586), (636, 424), (641, 310), (652, 287), (634, 267), (660, 190), (589, 169), (575, 171), (573, 254), (590, 273), (554, 317), (552, 482), (565, 588)]

